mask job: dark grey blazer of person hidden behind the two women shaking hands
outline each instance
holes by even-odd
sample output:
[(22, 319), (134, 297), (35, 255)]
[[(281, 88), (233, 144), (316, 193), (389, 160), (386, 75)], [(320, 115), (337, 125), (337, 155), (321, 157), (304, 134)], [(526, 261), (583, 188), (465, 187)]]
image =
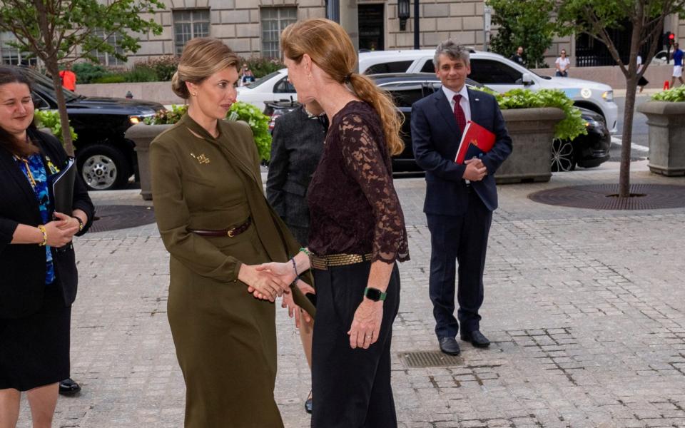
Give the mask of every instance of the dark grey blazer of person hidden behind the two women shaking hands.
[[(309, 228), (307, 188), (319, 164), (327, 126), (303, 107), (276, 119), (266, 197), (288, 227)], [(296, 233), (296, 231), (293, 231)], [(300, 243), (306, 237), (297, 236)]]

